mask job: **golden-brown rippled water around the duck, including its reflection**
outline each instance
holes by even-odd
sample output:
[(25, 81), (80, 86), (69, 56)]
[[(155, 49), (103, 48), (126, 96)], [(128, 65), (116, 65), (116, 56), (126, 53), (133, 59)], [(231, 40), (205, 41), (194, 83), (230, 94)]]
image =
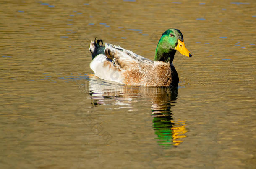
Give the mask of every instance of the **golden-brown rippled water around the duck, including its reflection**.
[[(254, 168), (255, 6), (223, 1), (2, 1), (0, 168)], [(182, 31), (178, 88), (93, 76), (97, 36), (154, 59)]]

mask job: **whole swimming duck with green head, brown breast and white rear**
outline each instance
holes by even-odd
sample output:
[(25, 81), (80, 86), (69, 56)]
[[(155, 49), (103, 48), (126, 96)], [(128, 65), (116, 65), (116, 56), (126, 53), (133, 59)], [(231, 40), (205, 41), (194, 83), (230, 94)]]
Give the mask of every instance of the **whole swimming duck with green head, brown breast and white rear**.
[(157, 45), (154, 61), (144, 58), (120, 46), (105, 43), (96, 38), (89, 50), (94, 75), (107, 81), (136, 86), (178, 86), (179, 77), (172, 64), (176, 50), (191, 57), (185, 47), (183, 35), (178, 29), (166, 30)]

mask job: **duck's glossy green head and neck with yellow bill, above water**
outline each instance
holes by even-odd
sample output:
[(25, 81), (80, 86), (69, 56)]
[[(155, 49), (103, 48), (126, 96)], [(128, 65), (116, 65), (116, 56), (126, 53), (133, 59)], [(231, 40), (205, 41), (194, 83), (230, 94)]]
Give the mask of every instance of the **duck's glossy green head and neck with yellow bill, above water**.
[(185, 47), (180, 30), (168, 29), (162, 34), (158, 42), (155, 61), (172, 63), (176, 50), (185, 56), (192, 56), (192, 53)]

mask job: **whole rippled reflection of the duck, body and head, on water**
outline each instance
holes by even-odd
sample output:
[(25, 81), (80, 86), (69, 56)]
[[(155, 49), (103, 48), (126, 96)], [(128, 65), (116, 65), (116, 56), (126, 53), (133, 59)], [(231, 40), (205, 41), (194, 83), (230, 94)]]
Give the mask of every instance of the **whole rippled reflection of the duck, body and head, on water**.
[(171, 107), (175, 106), (173, 103), (177, 100), (178, 88), (122, 86), (92, 77), (89, 80), (89, 93), (92, 105), (109, 104), (106, 98), (112, 98), (115, 105), (132, 106), (140, 98), (147, 98), (152, 102), (151, 116), (157, 143), (169, 148), (180, 145), (186, 137), (186, 121), (172, 118)]

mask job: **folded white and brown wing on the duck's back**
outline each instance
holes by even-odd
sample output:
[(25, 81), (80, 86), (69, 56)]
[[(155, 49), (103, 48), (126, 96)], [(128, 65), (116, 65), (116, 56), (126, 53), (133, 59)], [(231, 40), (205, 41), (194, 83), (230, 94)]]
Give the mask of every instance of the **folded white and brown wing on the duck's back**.
[(133, 53), (130, 50), (105, 43), (104, 55), (111, 61), (114, 66), (121, 70), (131, 71), (132, 69), (140, 69), (142, 66), (153, 66), (154, 62)]

